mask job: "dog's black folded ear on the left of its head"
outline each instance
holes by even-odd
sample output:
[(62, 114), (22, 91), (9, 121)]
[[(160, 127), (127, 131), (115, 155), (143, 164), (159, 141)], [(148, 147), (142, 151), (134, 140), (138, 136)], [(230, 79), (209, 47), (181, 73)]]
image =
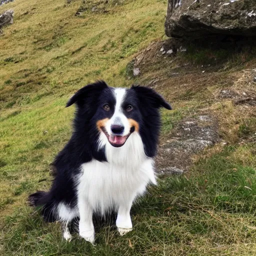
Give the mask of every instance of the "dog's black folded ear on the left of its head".
[(76, 103), (81, 105), (86, 97), (90, 97), (92, 94), (99, 94), (102, 89), (108, 87), (104, 81), (96, 81), (94, 83), (87, 84), (80, 88), (76, 93), (67, 101), (66, 107)]

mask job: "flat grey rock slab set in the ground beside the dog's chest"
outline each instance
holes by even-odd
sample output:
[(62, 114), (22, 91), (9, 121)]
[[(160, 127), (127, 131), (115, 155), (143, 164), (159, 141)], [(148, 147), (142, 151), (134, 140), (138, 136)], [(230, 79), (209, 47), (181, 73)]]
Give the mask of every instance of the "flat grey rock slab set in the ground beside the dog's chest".
[(157, 173), (180, 174), (187, 171), (194, 154), (220, 140), (217, 129), (217, 121), (208, 114), (181, 120), (169, 139), (159, 146)]

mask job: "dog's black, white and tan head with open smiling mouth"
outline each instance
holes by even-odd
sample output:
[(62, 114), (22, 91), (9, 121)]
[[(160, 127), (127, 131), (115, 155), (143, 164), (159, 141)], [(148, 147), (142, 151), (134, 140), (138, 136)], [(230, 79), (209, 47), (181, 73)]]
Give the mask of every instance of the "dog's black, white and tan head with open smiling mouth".
[(138, 132), (141, 137), (145, 136), (146, 129), (149, 133), (150, 129), (158, 133), (159, 107), (171, 109), (163, 97), (151, 88), (138, 85), (129, 89), (113, 88), (104, 81), (79, 89), (66, 106), (73, 103), (77, 104), (79, 120), (94, 126), (98, 135), (104, 134), (114, 147), (122, 146), (132, 132)]

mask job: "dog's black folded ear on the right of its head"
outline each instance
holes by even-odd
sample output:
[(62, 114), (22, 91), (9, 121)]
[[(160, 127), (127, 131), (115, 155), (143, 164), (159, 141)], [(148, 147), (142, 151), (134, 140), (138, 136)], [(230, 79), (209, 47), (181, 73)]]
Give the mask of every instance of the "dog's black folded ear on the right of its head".
[(171, 110), (170, 104), (155, 90), (140, 85), (132, 85), (131, 89), (135, 90), (141, 102), (146, 102), (156, 108), (162, 106)]

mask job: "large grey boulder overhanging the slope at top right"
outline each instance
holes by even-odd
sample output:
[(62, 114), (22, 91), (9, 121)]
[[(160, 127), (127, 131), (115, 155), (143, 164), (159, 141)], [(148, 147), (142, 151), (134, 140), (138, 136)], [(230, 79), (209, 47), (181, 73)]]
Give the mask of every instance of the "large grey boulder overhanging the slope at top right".
[(256, 0), (168, 0), (165, 33), (187, 39), (256, 36)]

